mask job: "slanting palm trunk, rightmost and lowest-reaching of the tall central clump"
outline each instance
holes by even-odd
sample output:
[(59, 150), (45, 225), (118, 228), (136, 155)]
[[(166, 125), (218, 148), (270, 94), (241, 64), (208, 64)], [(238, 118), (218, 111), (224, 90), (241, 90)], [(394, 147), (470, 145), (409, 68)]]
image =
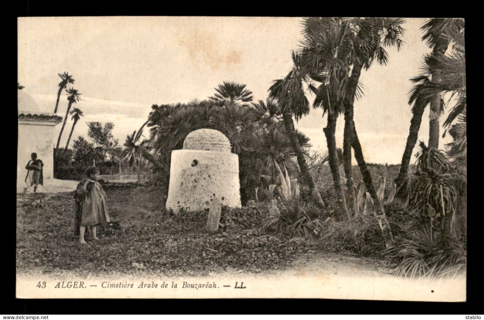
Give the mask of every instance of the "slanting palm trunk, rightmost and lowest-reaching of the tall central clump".
[(370, 192), (371, 198), (373, 199), (373, 203), (375, 204), (375, 217), (377, 218), (378, 224), (380, 226), (381, 234), (383, 235), (383, 240), (385, 241), (385, 245), (387, 248), (391, 247), (393, 244), (393, 236), (392, 230), (390, 228), (390, 224), (388, 223), (387, 216), (385, 214), (385, 210), (383, 209), (383, 204), (381, 203), (380, 199), (377, 196), (377, 191), (375, 190), (375, 185), (373, 184), (373, 180), (371, 178), (370, 171), (366, 166), (366, 162), (363, 158), (363, 150), (360, 144), (360, 140), (358, 139), (358, 134), (356, 133), (356, 128), (354, 123), (353, 127), (353, 136), (352, 136), (352, 146), (355, 150), (355, 158), (358, 161), (358, 165), (360, 166), (360, 171), (363, 176), (363, 183), (366, 187), (366, 190)]

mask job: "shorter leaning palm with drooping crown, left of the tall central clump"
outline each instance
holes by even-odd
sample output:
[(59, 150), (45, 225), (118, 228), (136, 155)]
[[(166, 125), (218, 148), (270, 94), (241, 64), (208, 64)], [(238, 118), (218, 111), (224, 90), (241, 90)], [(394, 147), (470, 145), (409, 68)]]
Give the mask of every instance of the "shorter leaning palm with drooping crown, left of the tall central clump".
[(300, 75), (301, 71), (298, 69), (299, 59), (300, 56), (296, 55), (293, 51), (293, 69), (289, 71), (286, 78), (274, 81), (274, 84), (269, 89), (269, 96), (277, 99), (280, 103), (286, 133), (289, 137), (292, 148), (296, 153), (302, 177), (309, 187), (313, 201), (318, 206), (324, 207), (324, 202), (321, 199), (321, 195), (319, 194), (313, 177), (309, 172), (309, 167), (304, 157), (304, 153), (302, 152), (301, 144), (299, 143), (294, 122), (292, 120), (293, 115), (296, 121), (298, 121), (303, 115), (309, 113), (309, 101), (304, 95), (304, 89), (302, 87), (303, 76)]

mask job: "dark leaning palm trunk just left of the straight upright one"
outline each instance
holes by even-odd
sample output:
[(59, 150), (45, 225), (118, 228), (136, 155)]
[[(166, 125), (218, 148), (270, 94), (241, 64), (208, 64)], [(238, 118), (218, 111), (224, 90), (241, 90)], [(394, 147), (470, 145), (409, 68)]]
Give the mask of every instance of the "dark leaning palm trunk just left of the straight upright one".
[(408, 168), (410, 166), (410, 158), (412, 151), (417, 143), (419, 137), (419, 129), (422, 123), (422, 115), (425, 110), (427, 101), (423, 97), (417, 97), (412, 108), (412, 119), (410, 120), (410, 130), (408, 132), (407, 144), (402, 156), (402, 163), (400, 164), (400, 172), (395, 179), (397, 192), (395, 197), (399, 199), (407, 198), (408, 191)]

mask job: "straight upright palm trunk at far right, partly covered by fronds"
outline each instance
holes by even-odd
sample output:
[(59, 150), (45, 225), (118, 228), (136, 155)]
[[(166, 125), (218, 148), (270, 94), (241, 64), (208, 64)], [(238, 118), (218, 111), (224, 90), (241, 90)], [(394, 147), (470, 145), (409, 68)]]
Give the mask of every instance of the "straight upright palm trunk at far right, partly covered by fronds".
[[(439, 37), (439, 40), (434, 46), (432, 51), (432, 56), (436, 59), (442, 57), (449, 46), (449, 40), (446, 37)], [(439, 71), (432, 72), (432, 82), (439, 83), (441, 81), (441, 75)], [(439, 149), (439, 115), (440, 109), (442, 108), (442, 101), (439, 94), (432, 96), (430, 100), (430, 122), (429, 122), (429, 137), (428, 137), (428, 147)]]

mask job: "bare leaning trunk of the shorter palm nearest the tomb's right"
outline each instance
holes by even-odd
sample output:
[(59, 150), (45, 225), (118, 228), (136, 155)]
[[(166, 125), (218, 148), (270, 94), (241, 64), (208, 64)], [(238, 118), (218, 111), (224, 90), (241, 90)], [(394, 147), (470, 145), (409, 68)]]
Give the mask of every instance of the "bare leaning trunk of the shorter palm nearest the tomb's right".
[(301, 173), (304, 178), (304, 181), (306, 181), (309, 187), (309, 190), (313, 197), (313, 201), (318, 206), (324, 207), (324, 202), (321, 199), (321, 195), (319, 194), (318, 189), (316, 189), (316, 185), (314, 184), (313, 177), (309, 172), (309, 167), (307, 166), (306, 159), (304, 158), (304, 154), (302, 153), (301, 145), (299, 144), (299, 140), (296, 135), (296, 129), (294, 128), (294, 122), (292, 121), (292, 116), (290, 115), (290, 113), (284, 113), (283, 120), (284, 120), (284, 127), (286, 128), (286, 132), (287, 132), (287, 135), (289, 136), (289, 140), (291, 142), (292, 148), (296, 153), (299, 168), (301, 169)]

